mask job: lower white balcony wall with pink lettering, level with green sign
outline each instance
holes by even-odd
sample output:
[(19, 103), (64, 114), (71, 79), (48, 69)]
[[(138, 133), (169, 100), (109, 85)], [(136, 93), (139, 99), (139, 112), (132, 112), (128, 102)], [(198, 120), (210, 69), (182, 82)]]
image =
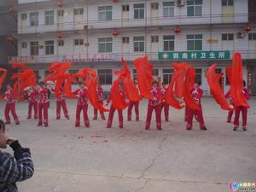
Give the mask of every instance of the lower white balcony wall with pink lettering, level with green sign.
[[(231, 55), (234, 51), (230, 51)], [(255, 60), (256, 50), (241, 50), (243, 60)], [(74, 54), (74, 55), (28, 55), (28, 56), (10, 56), (9, 63), (20, 61), (24, 63), (51, 63), (53, 61), (72, 61), (73, 63), (94, 63), (94, 62), (114, 62), (134, 61), (137, 57), (148, 55), (149, 61), (159, 61), (158, 52), (139, 52), (139, 53), (106, 53), (106, 54)], [(230, 58), (231, 60), (231, 58)], [(191, 60), (197, 61), (197, 60)], [(207, 60), (209, 61), (209, 60)], [(212, 60), (218, 61), (218, 60)]]

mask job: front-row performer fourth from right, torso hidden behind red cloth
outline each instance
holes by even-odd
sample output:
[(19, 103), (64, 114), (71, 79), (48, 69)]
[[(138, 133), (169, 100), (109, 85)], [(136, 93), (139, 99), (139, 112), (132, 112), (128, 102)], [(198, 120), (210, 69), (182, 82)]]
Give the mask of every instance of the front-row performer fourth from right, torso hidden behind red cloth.
[[(119, 90), (121, 91), (122, 96), (125, 97), (125, 93), (123, 91), (122, 84), (119, 84)], [(109, 104), (109, 102), (111, 102), (111, 100), (112, 100), (112, 98), (111, 98), (111, 93), (110, 93), (109, 96), (108, 96), (108, 100), (105, 104), (108, 106), (108, 104)], [(115, 110), (116, 109), (113, 108), (113, 104), (111, 104), (111, 107), (109, 109), (109, 114), (108, 114), (107, 128), (111, 128), (111, 126), (112, 126), (113, 115), (114, 115)], [(117, 109), (117, 110), (118, 110), (118, 113), (119, 113), (119, 128), (121, 129), (121, 128), (124, 128), (123, 110), (122, 109)]]

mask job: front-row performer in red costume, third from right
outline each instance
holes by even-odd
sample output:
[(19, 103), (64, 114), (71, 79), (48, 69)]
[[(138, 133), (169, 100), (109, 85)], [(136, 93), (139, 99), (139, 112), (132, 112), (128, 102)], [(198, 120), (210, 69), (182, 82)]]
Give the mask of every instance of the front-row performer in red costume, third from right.
[(150, 95), (153, 96), (154, 99), (148, 100), (148, 112), (147, 112), (145, 130), (149, 130), (153, 110), (155, 112), (156, 128), (158, 130), (161, 130), (162, 129), (161, 128), (161, 103), (160, 103), (161, 91), (159, 88), (159, 83), (157, 81), (154, 81), (151, 84)]

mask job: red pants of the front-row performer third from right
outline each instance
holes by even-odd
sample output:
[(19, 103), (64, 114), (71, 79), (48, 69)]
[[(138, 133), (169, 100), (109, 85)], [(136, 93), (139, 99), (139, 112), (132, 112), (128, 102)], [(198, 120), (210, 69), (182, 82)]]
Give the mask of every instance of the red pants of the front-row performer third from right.
[(147, 112), (147, 119), (146, 119), (146, 129), (149, 129), (152, 113), (155, 112), (155, 119), (156, 119), (156, 128), (161, 129), (161, 105), (150, 105), (148, 104), (148, 112)]

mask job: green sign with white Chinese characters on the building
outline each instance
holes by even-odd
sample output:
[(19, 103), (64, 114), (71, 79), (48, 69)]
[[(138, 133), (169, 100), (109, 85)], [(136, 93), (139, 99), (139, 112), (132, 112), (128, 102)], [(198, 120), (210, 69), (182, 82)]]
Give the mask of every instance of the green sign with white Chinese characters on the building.
[(230, 51), (170, 51), (159, 52), (159, 61), (230, 60)]

